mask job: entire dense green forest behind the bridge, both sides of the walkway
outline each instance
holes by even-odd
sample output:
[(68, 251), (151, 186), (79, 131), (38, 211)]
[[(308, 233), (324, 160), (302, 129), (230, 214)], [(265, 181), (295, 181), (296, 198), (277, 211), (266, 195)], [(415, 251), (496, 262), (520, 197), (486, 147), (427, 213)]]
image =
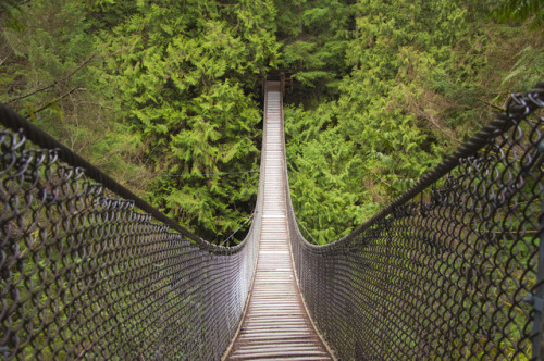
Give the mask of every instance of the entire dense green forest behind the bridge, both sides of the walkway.
[(0, 101), (217, 244), (255, 207), (275, 71), (296, 216), (326, 244), (544, 79), (544, 4), (0, 2)]

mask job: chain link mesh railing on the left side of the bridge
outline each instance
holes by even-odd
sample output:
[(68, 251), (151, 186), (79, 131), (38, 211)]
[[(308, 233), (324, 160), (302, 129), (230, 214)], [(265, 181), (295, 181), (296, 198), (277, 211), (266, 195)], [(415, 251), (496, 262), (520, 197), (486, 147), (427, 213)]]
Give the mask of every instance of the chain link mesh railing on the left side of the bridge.
[(0, 358), (220, 359), (250, 288), (261, 201), (244, 242), (217, 247), (3, 105), (0, 119)]

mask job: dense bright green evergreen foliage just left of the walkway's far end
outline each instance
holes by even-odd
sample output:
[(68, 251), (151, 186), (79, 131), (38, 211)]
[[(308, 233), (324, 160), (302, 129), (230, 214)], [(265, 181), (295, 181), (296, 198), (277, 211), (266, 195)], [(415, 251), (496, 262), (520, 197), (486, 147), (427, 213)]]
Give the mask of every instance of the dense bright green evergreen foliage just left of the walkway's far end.
[[(163, 174), (152, 195), (183, 224), (220, 241), (254, 207), (261, 114), (251, 91), (276, 57), (271, 2), (141, 2), (103, 33), (111, 84)], [(127, 51), (125, 50), (127, 49)], [(224, 176), (225, 173), (238, 174)]]

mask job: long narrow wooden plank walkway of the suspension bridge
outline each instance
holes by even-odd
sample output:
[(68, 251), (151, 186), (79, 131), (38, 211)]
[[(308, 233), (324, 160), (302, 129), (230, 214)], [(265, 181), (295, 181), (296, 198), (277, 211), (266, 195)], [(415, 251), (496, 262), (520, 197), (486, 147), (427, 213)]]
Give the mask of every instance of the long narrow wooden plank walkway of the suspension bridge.
[(226, 360), (333, 360), (296, 283), (287, 234), (282, 101), (267, 83), (264, 204), (259, 258), (242, 327)]

